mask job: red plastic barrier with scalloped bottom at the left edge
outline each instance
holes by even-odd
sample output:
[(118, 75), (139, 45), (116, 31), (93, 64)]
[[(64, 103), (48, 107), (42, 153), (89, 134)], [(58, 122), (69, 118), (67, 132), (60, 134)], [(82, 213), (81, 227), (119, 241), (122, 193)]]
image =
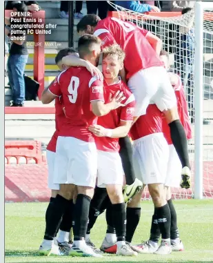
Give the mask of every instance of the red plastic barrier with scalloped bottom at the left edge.
[(41, 152), (41, 142), (38, 141), (6, 141), (5, 142), (5, 157), (7, 164), (10, 164), (10, 159), (15, 157), (17, 164), (21, 157), (26, 158), (26, 164), (31, 159), (34, 159), (36, 164), (43, 163)]

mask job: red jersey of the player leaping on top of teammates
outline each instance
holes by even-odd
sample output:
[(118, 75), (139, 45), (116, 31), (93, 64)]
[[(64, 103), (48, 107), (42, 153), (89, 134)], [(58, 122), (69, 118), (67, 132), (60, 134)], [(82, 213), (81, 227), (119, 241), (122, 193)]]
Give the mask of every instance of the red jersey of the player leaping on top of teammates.
[(118, 43), (125, 51), (124, 67), (129, 79), (139, 70), (163, 66), (163, 62), (145, 38), (147, 32), (134, 23), (107, 17), (99, 21), (94, 35), (101, 39), (102, 48)]

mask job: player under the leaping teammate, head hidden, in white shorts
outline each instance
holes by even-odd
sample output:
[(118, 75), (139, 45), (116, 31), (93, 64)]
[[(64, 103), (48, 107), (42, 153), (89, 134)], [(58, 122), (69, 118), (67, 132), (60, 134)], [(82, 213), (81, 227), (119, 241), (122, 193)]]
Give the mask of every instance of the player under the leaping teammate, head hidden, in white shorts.
[[(147, 113), (137, 119), (130, 130), (133, 141), (133, 160), (136, 177), (141, 179), (144, 185), (148, 185), (156, 222), (161, 233), (161, 245), (149, 242), (131, 246), (139, 253), (156, 253), (161, 255), (172, 252), (170, 244), (170, 207), (165, 198), (164, 183), (168, 166), (168, 144), (163, 135), (161, 111), (155, 104), (150, 104)], [(140, 207), (141, 193), (135, 195), (129, 207)], [(134, 231), (130, 235), (131, 242)]]

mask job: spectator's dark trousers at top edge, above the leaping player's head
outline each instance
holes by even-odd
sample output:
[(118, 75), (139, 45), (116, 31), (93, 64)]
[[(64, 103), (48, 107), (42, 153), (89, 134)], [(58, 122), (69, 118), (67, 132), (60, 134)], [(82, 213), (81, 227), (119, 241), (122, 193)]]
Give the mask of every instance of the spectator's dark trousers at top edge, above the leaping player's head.
[[(119, 1), (120, 2), (120, 1)], [(88, 14), (97, 14), (101, 19), (105, 19), (108, 16), (108, 10), (110, 8), (108, 1), (86, 1)]]

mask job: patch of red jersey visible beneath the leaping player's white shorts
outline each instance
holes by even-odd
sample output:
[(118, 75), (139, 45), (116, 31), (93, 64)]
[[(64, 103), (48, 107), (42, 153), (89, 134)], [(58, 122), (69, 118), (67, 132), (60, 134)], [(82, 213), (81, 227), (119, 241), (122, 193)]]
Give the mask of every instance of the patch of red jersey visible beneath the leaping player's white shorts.
[(140, 139), (153, 133), (162, 133), (161, 111), (155, 104), (150, 104), (146, 114), (139, 117), (130, 130), (132, 140)]

